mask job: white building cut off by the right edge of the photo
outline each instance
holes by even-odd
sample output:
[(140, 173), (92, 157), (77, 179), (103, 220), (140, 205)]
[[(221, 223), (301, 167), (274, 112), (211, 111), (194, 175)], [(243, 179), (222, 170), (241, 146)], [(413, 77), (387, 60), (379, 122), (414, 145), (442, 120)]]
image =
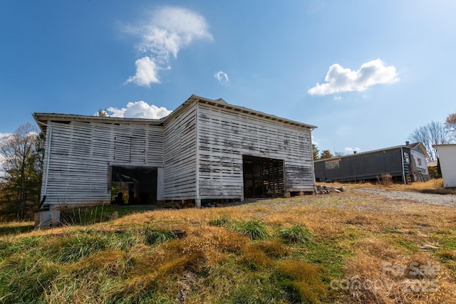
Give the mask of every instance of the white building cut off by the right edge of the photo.
[(433, 145), (437, 150), (443, 187), (456, 187), (456, 144)]

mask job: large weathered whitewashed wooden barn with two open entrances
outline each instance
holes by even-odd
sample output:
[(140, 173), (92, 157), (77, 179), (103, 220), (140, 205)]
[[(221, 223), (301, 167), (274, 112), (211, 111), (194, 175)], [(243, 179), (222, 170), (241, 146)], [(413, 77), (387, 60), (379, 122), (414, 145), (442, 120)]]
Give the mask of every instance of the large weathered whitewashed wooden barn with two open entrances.
[(160, 120), (34, 113), (46, 134), (41, 207), (314, 192), (313, 125), (192, 95)]

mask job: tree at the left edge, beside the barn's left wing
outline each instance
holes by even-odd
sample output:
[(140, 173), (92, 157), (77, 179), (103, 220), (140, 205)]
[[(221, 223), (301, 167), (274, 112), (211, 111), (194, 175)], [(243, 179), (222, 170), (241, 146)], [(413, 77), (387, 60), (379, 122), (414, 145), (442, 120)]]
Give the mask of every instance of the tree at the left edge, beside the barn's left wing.
[(27, 206), (38, 206), (43, 164), (43, 138), (38, 128), (26, 123), (0, 139), (2, 202), (16, 205), (17, 219)]

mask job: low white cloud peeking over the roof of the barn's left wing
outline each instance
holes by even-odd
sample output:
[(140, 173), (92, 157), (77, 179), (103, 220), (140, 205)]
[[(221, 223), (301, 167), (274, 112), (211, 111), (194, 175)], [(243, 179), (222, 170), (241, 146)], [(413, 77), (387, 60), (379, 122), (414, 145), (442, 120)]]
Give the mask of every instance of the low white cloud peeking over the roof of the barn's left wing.
[(126, 108), (110, 107), (106, 110), (110, 117), (150, 118), (155, 120), (165, 117), (172, 112), (172, 110), (167, 110), (167, 108), (149, 105), (142, 100), (135, 103), (128, 103)]

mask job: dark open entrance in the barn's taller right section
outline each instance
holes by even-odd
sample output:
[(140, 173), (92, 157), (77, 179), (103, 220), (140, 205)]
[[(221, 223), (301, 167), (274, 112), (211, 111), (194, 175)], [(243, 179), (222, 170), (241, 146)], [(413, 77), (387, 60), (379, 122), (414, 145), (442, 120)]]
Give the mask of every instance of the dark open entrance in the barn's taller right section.
[(242, 156), (244, 197), (276, 197), (285, 193), (284, 161)]

